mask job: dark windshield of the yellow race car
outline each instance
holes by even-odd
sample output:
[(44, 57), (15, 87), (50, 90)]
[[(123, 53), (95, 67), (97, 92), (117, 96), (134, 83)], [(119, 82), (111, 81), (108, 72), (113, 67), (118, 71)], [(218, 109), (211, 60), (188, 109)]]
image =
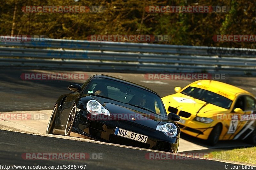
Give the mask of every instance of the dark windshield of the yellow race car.
[(226, 109), (229, 109), (232, 104), (232, 100), (224, 96), (197, 87), (190, 86), (181, 93)]

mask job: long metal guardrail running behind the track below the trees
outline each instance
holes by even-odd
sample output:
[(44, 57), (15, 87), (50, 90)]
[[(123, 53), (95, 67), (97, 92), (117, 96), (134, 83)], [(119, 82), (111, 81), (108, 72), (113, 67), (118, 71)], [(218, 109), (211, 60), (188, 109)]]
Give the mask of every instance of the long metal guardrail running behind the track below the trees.
[(44, 39), (0, 42), (0, 66), (256, 75), (256, 49)]

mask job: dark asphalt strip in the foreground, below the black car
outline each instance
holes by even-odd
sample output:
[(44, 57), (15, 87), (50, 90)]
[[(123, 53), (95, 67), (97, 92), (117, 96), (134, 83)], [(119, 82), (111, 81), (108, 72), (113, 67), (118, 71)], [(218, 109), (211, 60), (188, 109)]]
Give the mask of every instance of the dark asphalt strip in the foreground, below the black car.
[[(20, 132), (0, 130), (0, 164), (1, 165), (86, 165), (86, 169), (224, 169), (224, 162), (203, 159), (150, 160), (147, 153), (124, 147), (85, 143), (54, 137), (44, 137)], [(4, 146), (4, 147), (3, 147)], [(22, 153), (103, 153), (102, 159), (88, 160), (26, 160)], [(92, 157), (90, 157), (92, 158)], [(191, 160), (189, 160), (191, 159)]]

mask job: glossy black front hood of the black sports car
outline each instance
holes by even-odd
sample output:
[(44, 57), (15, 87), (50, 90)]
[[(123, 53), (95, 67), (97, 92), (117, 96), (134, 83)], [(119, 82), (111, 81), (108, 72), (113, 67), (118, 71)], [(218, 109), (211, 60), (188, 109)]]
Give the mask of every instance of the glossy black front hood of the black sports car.
[[(85, 98), (87, 98), (86, 101), (88, 101), (88, 97), (90, 99), (93, 98), (93, 99), (99, 101), (103, 107), (108, 109), (108, 111), (110, 113), (109, 118), (111, 120), (117, 120), (120, 122), (125, 121), (125, 122), (129, 122), (132, 124), (133, 123), (139, 124), (144, 127), (156, 129), (159, 122), (168, 119), (167, 115), (166, 115), (166, 117), (157, 115), (157, 114), (151, 113), (147, 110), (141, 109), (139, 107), (131, 106), (126, 103), (118, 102), (118, 101), (107, 99), (107, 98), (102, 98), (99, 96), (92, 96), (92, 95), (89, 95), (89, 96), (88, 95), (84, 96)], [(84, 97), (82, 97), (82, 98), (84, 98)], [(83, 99), (81, 99), (81, 100), (83, 100)], [(86, 106), (86, 103), (84, 103), (84, 106)], [(119, 118), (118, 118), (118, 115), (120, 116)], [(172, 122), (172, 121), (170, 121), (170, 122)]]

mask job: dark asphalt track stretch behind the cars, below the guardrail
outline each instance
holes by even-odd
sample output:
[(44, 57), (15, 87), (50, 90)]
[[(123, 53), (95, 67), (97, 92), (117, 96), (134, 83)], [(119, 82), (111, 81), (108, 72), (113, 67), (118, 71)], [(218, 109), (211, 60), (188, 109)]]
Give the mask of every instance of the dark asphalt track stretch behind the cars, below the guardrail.
[[(69, 93), (68, 84), (82, 85), (85, 80), (22, 80), (22, 73), (74, 73), (56, 70), (14, 70), (0, 69), (0, 112), (52, 109), (61, 94)], [(78, 71), (76, 71), (78, 72)], [(79, 73), (79, 72), (78, 72)], [(86, 72), (88, 77), (94, 74), (107, 74), (122, 78), (156, 91), (161, 97), (174, 93), (174, 87), (184, 87), (195, 80), (148, 80), (144, 74)], [(241, 87), (256, 95), (256, 78), (228, 77), (223, 82)], [(12, 103), (12, 104), (11, 104)]]

